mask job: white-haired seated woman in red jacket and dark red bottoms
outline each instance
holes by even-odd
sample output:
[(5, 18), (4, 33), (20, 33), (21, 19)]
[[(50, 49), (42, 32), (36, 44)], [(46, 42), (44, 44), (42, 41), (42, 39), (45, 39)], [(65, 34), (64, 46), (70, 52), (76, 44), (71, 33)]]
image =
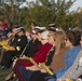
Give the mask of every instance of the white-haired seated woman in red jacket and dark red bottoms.
[[(33, 60), (36, 60), (37, 63), (42, 63), (45, 60), (46, 55), (50, 51), (50, 49), (52, 48), (52, 44), (47, 42), (47, 31), (43, 31), (41, 33), (41, 45), (39, 45), (38, 52), (33, 54), (32, 58)], [(19, 66), (24, 66), (24, 67), (28, 67), (28, 66), (32, 66), (33, 64), (30, 63), (27, 57), (26, 58), (20, 58), (16, 62), (13, 71), (15, 72), (15, 75), (19, 78), (19, 80), (22, 80), (22, 77), (19, 76)], [(6, 80), (6, 79), (5, 79)]]

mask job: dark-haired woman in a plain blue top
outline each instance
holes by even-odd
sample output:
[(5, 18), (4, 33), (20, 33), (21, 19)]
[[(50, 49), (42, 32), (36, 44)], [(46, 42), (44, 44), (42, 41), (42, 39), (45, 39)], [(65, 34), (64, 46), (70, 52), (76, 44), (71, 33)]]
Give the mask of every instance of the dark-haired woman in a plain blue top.
[[(60, 78), (73, 64), (78, 53), (81, 51), (80, 46), (80, 38), (81, 35), (79, 35), (77, 31), (67, 31), (65, 39), (65, 45), (69, 48), (69, 50), (65, 54), (65, 65), (60, 69), (57, 69), (54, 71), (56, 75), (56, 78)], [(54, 81), (53, 78), (49, 81)]]

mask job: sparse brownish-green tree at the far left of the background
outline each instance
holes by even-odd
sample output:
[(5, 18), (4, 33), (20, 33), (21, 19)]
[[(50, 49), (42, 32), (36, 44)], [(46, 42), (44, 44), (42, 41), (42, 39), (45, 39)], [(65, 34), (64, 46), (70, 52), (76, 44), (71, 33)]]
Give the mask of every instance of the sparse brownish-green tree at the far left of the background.
[(26, 0), (0, 0), (0, 11), (1, 15), (8, 18), (10, 25), (14, 27), (15, 25), (20, 25), (23, 22), (22, 13), (23, 10), (19, 6)]

